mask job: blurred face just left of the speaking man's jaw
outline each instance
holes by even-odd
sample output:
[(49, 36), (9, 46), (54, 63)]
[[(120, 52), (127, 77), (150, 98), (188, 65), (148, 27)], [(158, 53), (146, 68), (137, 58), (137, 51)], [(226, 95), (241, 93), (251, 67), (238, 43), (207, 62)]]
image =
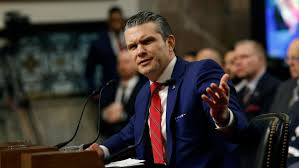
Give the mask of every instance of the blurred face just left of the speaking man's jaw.
[(119, 53), (117, 70), (122, 80), (129, 80), (136, 75), (137, 67), (128, 51), (123, 50)]

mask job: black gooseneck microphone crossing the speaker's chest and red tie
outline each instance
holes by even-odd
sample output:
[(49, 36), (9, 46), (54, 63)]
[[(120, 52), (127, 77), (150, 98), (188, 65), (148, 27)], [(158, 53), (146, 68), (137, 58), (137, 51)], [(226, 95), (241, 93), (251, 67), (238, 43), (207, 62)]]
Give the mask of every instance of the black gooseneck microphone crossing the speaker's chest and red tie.
[(126, 152), (128, 152), (129, 150), (135, 148), (136, 146), (138, 146), (142, 139), (143, 139), (143, 135), (144, 135), (144, 129), (145, 129), (145, 126), (147, 124), (147, 120), (148, 120), (148, 116), (149, 116), (149, 108), (151, 106), (151, 100), (152, 100), (152, 97), (153, 95), (158, 92), (160, 90), (160, 88), (162, 86), (171, 86), (171, 85), (175, 85), (175, 80), (174, 79), (168, 79), (167, 81), (165, 81), (164, 83), (160, 83), (160, 85), (155, 88), (155, 90), (153, 90), (153, 94), (150, 95), (150, 98), (149, 98), (149, 103), (147, 103), (147, 108), (146, 108), (146, 113), (145, 113), (145, 118), (144, 118), (144, 121), (143, 121), (143, 129), (141, 131), (141, 136), (140, 138), (138, 139), (138, 141), (134, 144), (134, 145), (129, 145), (128, 147), (116, 152), (115, 154), (112, 154), (110, 155), (107, 159), (105, 159), (105, 164), (108, 164), (110, 162), (112, 162), (113, 160), (115, 160), (118, 156), (121, 156), (123, 154), (125, 154)]

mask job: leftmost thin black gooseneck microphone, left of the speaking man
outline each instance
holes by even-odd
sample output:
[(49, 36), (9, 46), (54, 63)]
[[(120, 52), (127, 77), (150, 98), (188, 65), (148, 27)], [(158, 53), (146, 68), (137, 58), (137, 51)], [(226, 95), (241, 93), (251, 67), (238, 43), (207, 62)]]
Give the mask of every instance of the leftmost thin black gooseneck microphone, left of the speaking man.
[(111, 85), (111, 84), (114, 83), (114, 82), (115, 82), (115, 80), (110, 80), (110, 81), (107, 82), (101, 89), (94, 90), (91, 94), (89, 94), (89, 95), (87, 96), (87, 98), (86, 98), (86, 100), (85, 100), (85, 103), (84, 103), (84, 106), (83, 106), (82, 111), (81, 111), (81, 115), (80, 115), (80, 118), (79, 118), (79, 121), (78, 121), (78, 124), (77, 124), (77, 128), (76, 128), (76, 130), (75, 130), (75, 133), (73, 134), (73, 136), (72, 136), (69, 140), (67, 140), (67, 141), (65, 141), (65, 142), (61, 142), (61, 143), (55, 145), (56, 148), (60, 149), (60, 148), (62, 148), (62, 147), (64, 147), (64, 146), (66, 146), (67, 144), (69, 144), (72, 140), (74, 140), (74, 138), (76, 137), (76, 135), (77, 135), (77, 133), (78, 133), (78, 130), (79, 130), (79, 127), (80, 127), (80, 124), (81, 124), (81, 120), (82, 120), (82, 117), (83, 117), (83, 114), (84, 114), (84, 111), (85, 111), (85, 107), (86, 107), (86, 105), (87, 105), (87, 103), (88, 103), (90, 97), (99, 94), (99, 100), (100, 100), (102, 91), (103, 91), (107, 86)]

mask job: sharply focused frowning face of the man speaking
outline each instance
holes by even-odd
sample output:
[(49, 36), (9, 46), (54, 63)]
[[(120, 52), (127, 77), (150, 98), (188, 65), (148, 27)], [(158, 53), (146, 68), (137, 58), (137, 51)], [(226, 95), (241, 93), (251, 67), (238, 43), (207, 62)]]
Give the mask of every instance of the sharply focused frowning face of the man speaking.
[(153, 22), (128, 28), (125, 31), (128, 51), (137, 65), (138, 71), (152, 81), (156, 81), (170, 60), (174, 57), (174, 36), (163, 40)]

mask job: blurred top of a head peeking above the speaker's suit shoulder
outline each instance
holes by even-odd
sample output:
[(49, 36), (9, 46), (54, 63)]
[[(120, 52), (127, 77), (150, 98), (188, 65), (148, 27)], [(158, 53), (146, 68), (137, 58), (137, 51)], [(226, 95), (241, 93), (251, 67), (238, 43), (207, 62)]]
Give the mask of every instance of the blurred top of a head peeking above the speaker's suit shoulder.
[(195, 56), (195, 60), (199, 61), (203, 59), (212, 59), (220, 66), (223, 66), (222, 56), (216, 49), (204, 48), (199, 50)]

